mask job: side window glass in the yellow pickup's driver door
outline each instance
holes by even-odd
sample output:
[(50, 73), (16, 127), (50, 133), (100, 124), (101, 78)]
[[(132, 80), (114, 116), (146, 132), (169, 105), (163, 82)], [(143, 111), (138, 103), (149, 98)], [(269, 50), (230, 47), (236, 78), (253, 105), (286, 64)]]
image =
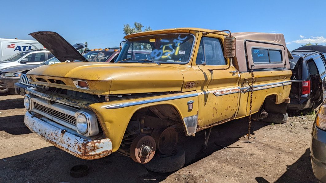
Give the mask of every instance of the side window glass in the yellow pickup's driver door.
[(196, 64), (226, 65), (221, 41), (212, 37), (201, 38)]

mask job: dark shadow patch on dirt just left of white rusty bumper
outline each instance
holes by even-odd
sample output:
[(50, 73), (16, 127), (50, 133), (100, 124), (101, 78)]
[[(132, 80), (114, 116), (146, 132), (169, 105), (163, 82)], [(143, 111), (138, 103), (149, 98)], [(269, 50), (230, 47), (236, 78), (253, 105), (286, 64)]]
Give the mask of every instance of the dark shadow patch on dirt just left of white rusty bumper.
[(24, 115), (0, 117), (0, 131), (12, 135), (32, 133), (24, 124)]

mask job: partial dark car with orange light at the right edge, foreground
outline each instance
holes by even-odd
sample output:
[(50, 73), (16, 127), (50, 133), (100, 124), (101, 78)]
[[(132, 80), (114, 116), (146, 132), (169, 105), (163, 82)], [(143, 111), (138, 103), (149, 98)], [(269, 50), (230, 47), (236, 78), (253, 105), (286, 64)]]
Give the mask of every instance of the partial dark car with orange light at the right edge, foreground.
[(319, 107), (311, 132), (310, 159), (320, 182), (326, 182), (326, 101)]

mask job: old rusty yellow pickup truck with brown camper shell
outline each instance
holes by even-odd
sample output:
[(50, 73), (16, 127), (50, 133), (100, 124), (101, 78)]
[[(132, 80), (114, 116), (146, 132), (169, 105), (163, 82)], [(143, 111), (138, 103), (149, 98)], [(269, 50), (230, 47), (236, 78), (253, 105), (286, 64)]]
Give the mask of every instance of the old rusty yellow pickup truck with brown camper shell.
[[(27, 73), (37, 86), (26, 88), (24, 122), (79, 158), (119, 152), (157, 172), (184, 165), (178, 132), (247, 116), (286, 122), (292, 72), (284, 36), (228, 32), (126, 35), (115, 63), (88, 62), (57, 33), (31, 33), (63, 63)], [(173, 156), (170, 169), (160, 167)]]

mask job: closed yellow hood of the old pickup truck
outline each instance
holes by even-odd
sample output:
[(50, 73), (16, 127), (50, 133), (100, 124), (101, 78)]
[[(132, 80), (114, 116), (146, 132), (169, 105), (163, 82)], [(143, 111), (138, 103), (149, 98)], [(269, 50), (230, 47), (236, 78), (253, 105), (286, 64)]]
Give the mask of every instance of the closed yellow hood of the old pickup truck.
[[(177, 67), (149, 63), (56, 63), (37, 67), (27, 74), (32, 78), (65, 78), (66, 85), (58, 86), (52, 83), (47, 85), (91, 94), (181, 91), (184, 82), (183, 75)], [(89, 90), (77, 89), (72, 81), (67, 81), (68, 79), (85, 80), (92, 84), (89, 84)], [(96, 84), (95, 81), (99, 81), (100, 84)]]

